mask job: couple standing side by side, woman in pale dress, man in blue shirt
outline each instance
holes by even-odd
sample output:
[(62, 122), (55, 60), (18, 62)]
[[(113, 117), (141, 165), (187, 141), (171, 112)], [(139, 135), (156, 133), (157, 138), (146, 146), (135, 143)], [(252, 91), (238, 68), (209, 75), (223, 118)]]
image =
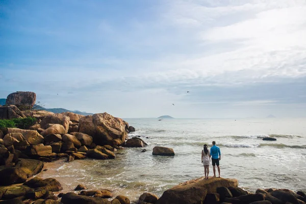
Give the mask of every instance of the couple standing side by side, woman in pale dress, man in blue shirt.
[(219, 177), (221, 177), (220, 167), (219, 167), (219, 160), (221, 160), (221, 152), (220, 148), (216, 146), (215, 141), (213, 141), (213, 146), (211, 147), (210, 150), (207, 148), (207, 144), (203, 145), (201, 161), (204, 166), (205, 179), (208, 179), (211, 157), (212, 157), (212, 164), (214, 170), (214, 177), (216, 177), (216, 165), (218, 168)]

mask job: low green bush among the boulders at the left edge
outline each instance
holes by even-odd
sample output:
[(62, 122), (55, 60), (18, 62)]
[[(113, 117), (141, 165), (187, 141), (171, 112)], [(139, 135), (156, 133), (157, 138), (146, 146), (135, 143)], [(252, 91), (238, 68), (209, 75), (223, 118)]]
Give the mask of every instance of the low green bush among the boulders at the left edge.
[(14, 119), (0, 119), (0, 130), (8, 127), (18, 127), (20, 129), (28, 129), (34, 124), (36, 118), (27, 117), (27, 118), (14, 118)]

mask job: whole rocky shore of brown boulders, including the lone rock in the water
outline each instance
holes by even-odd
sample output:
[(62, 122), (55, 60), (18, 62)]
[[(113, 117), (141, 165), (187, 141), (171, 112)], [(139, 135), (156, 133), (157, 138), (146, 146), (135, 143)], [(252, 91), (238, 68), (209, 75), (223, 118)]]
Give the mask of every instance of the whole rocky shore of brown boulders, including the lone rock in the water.
[[(0, 107), (0, 119), (35, 118), (28, 129), (0, 130), (0, 203), (130, 203), (128, 197), (113, 195), (103, 187), (87, 189), (80, 184), (74, 192), (61, 193), (62, 185), (56, 179), (35, 175), (44, 170), (45, 163), (55, 160), (116, 159), (118, 149), (146, 146), (138, 137), (128, 138), (127, 134), (135, 128), (108, 113), (82, 116), (33, 110), (35, 100), (33, 92), (16, 92), (8, 96), (6, 106)], [(154, 147), (152, 155), (175, 154), (171, 148)], [(161, 197), (143, 193), (133, 202), (297, 204), (305, 203), (306, 197), (303, 192), (287, 189), (258, 189), (250, 193), (239, 188), (235, 179), (210, 177), (174, 186)]]

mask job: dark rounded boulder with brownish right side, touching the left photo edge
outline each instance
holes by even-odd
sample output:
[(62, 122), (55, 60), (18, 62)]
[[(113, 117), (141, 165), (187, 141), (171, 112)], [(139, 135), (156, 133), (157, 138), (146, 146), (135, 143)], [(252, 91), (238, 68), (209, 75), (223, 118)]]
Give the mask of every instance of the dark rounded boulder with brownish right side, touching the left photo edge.
[(20, 184), (27, 180), (28, 176), (22, 169), (6, 168), (0, 171), (0, 186)]

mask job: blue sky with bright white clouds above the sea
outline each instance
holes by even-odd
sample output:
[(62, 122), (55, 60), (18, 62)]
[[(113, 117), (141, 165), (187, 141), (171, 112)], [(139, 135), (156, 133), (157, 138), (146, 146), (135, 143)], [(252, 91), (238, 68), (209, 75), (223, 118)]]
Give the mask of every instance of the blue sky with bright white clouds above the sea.
[(306, 117), (306, 1), (0, 0), (15, 91), (123, 118)]

